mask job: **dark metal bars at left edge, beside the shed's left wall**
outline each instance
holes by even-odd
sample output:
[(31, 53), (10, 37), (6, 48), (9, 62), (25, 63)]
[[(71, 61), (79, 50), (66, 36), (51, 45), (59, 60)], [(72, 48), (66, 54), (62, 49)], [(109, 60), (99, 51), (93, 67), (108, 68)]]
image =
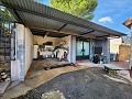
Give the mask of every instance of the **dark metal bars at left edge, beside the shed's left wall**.
[(0, 62), (15, 59), (14, 23), (0, 20)]

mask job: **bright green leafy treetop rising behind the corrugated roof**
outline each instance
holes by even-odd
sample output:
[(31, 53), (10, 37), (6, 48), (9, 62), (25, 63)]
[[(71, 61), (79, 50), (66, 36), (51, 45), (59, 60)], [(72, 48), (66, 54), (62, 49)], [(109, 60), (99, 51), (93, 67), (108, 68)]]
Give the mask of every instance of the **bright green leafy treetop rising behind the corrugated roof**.
[(92, 20), (97, 0), (51, 0), (51, 7), (85, 20)]

